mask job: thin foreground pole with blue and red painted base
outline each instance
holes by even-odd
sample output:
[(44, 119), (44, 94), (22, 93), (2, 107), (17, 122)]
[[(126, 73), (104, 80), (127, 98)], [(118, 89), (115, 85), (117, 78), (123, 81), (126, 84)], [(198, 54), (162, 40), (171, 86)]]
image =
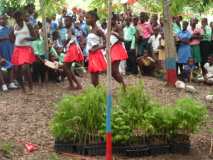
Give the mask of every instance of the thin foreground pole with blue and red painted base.
[(112, 110), (112, 66), (110, 57), (110, 35), (111, 35), (111, 18), (112, 17), (112, 0), (108, 0), (108, 24), (106, 37), (107, 52), (107, 109), (106, 109), (106, 160), (112, 160), (112, 128), (111, 128), (111, 110)]

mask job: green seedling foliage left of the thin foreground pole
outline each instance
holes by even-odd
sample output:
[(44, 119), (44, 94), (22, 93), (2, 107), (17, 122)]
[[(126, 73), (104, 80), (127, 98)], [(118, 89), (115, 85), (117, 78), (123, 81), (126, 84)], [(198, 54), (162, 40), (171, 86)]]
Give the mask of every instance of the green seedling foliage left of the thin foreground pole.
[(51, 122), (53, 135), (79, 143), (94, 141), (104, 121), (105, 97), (103, 88), (90, 87), (79, 96), (63, 98)]

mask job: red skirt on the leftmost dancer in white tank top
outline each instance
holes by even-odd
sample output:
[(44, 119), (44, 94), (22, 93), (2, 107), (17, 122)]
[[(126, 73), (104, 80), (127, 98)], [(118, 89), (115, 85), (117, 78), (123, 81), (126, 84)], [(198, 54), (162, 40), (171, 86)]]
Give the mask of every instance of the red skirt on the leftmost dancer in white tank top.
[(12, 55), (11, 63), (14, 65), (33, 64), (36, 61), (36, 56), (33, 54), (32, 47), (19, 46), (15, 47)]

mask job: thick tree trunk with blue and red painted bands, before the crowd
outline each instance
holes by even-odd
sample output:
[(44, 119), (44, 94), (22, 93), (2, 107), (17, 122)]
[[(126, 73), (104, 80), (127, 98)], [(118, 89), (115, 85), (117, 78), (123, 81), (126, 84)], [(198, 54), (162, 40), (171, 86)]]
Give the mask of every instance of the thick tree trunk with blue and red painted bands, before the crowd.
[(168, 85), (175, 85), (177, 81), (176, 74), (176, 47), (172, 30), (172, 17), (170, 10), (170, 1), (163, 0), (163, 16), (164, 16), (164, 37), (165, 37), (165, 53), (166, 53), (166, 79)]

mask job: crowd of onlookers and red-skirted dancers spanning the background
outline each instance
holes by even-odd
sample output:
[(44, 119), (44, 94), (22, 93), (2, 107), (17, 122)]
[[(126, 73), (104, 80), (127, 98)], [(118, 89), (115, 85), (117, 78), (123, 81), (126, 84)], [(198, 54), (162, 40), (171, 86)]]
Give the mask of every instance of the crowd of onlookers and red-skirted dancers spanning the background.
[[(48, 33), (48, 49), (42, 37)], [(87, 68), (94, 86), (99, 74), (106, 72), (107, 21), (99, 20), (97, 11), (85, 12), (64, 8), (61, 14), (38, 20), (35, 6), (0, 15), (0, 83), (3, 91), (22, 88), (32, 90), (34, 82), (60, 82), (65, 77), (69, 89), (81, 89), (78, 68)], [(191, 81), (192, 72), (213, 81), (213, 22), (207, 18), (183, 21), (173, 17), (177, 49), (177, 76)], [(128, 10), (112, 16), (110, 37), (112, 76), (125, 90), (123, 74), (152, 75), (165, 70), (163, 19), (147, 13), (133, 15)], [(193, 73), (194, 75), (194, 73)]]

